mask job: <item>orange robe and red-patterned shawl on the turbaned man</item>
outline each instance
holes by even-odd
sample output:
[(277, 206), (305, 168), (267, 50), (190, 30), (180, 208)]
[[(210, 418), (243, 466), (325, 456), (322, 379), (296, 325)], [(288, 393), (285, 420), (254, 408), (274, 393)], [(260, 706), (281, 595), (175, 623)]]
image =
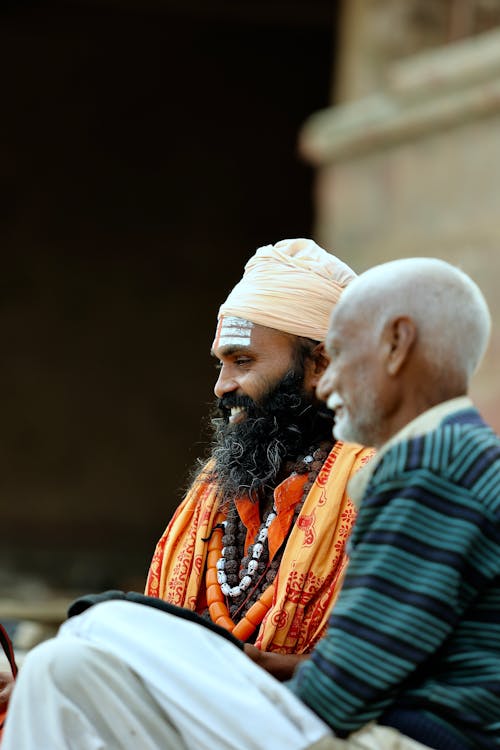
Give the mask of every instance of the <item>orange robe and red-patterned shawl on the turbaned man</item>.
[[(268, 532), (270, 559), (289, 536), (273, 602), (257, 633), (258, 648), (303, 654), (323, 635), (340, 590), (347, 563), (345, 543), (355, 518), (347, 483), (373, 454), (359, 445), (335, 443), (291, 531), (307, 475), (290, 476), (276, 487), (277, 517)], [(248, 530), (248, 546), (261, 523), (258, 503), (239, 499), (236, 506)], [(202, 471), (157, 544), (146, 594), (198, 612), (205, 609), (206, 540), (218, 511), (217, 489), (204, 481)]]

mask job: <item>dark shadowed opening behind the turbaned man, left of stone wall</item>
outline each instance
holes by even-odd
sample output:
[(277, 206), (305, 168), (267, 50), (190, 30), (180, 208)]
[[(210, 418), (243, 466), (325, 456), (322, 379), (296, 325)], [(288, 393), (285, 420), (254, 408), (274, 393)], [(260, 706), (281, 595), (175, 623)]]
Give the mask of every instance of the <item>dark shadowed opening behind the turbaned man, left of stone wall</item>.
[(332, 4), (177, 5), (0, 11), (8, 581), (142, 586), (204, 451), (218, 305), (256, 247), (311, 233), (296, 138)]

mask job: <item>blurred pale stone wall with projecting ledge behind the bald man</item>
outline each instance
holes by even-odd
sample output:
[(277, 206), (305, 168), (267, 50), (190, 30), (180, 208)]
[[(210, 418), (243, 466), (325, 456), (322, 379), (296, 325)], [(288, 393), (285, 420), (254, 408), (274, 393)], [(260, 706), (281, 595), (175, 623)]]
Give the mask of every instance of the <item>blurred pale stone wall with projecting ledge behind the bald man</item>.
[(315, 237), (357, 270), (439, 256), (483, 289), (494, 337), (473, 395), (500, 430), (500, 29), (393, 61), (383, 85), (314, 114)]

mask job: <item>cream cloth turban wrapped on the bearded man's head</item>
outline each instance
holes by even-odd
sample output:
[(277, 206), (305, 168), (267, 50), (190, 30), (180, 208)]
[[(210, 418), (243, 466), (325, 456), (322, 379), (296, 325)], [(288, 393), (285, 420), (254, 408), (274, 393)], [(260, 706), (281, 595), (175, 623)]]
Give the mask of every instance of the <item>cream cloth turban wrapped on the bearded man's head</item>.
[(333, 306), (356, 274), (312, 240), (260, 247), (219, 308), (221, 317), (324, 341)]

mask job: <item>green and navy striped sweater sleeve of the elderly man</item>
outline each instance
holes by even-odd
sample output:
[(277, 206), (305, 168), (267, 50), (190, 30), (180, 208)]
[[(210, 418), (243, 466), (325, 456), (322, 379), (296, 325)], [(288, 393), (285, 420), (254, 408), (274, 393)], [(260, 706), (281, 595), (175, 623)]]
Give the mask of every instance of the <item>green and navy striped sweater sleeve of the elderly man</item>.
[(372, 481), (327, 635), (288, 683), (337, 734), (376, 720), (443, 646), (488, 575), (488, 524), (431, 471)]

